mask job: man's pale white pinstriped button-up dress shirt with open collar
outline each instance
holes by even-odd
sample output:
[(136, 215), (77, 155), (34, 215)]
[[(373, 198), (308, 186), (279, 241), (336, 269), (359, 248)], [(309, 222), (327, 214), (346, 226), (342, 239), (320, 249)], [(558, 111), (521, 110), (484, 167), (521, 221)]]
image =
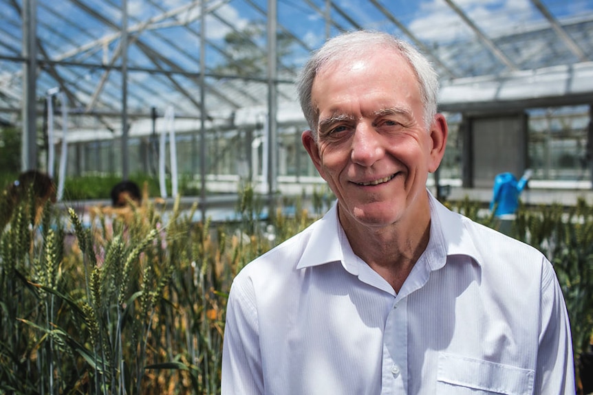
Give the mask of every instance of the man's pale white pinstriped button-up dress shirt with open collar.
[(446, 209), (399, 293), (352, 251), (336, 205), (242, 269), (222, 394), (571, 394), (552, 264)]

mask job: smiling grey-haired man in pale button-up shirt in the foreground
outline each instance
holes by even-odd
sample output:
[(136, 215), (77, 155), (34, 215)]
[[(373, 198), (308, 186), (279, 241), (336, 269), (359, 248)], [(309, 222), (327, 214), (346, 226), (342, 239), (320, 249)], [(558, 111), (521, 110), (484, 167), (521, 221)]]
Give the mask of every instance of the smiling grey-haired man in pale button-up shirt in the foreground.
[(574, 395), (552, 264), (427, 189), (447, 138), (429, 61), (389, 34), (341, 34), (298, 92), (337, 200), (233, 280), (222, 394)]

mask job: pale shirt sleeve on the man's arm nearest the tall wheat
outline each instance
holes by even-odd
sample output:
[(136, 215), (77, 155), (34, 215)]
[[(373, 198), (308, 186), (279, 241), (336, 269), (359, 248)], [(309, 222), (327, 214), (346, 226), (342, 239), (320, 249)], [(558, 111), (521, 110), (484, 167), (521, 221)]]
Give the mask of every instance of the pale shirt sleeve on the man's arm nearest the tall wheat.
[(235, 278), (228, 295), (222, 351), (222, 395), (263, 394), (255, 295), (247, 278)]

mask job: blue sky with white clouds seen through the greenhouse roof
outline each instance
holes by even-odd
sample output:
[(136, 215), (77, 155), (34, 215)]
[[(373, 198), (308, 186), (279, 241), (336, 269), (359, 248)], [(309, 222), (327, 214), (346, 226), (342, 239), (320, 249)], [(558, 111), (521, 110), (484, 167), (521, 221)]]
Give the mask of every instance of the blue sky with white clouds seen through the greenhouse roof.
[[(17, 0), (22, 4), (23, 0)], [(45, 50), (56, 60), (72, 62), (109, 63), (117, 57), (119, 43), (118, 26), (121, 23), (121, 0), (79, 0), (87, 4), (84, 10), (69, 0), (37, 0), (37, 34), (42, 39)], [(446, 0), (376, 0), (417, 40), (428, 47), (439, 47), (454, 43), (464, 43), (475, 33), (460, 19)], [(593, 19), (593, 0), (541, 0), (560, 21), (574, 18)], [(506, 36), (514, 32), (524, 32), (537, 27), (549, 26), (549, 23), (530, 0), (453, 0), (477, 28), (491, 38)], [(385, 30), (409, 38), (396, 27), (387, 16), (373, 5), (371, 0), (332, 0), (331, 10), (334, 25), (330, 34), (339, 30), (354, 30), (356, 26), (375, 30)], [(285, 61), (294, 65), (301, 64), (310, 54), (311, 49), (319, 47), (326, 38), (325, 15), (326, 0), (277, 0), (277, 14), (280, 29), (293, 34), (306, 44), (306, 47), (294, 45), (292, 57)], [(224, 37), (233, 29), (242, 30), (253, 21), (264, 22), (268, 8), (267, 0), (208, 0), (206, 7), (215, 9), (215, 13), (206, 18), (206, 36), (210, 44), (207, 47), (208, 65), (224, 61), (224, 54), (217, 49), (224, 46)], [(136, 67), (155, 68), (154, 56), (142, 54), (138, 43), (149, 46), (164, 56), (158, 60), (165, 68), (181, 67), (189, 71), (198, 71), (200, 65), (199, 0), (127, 0), (129, 14), (128, 27), (132, 32), (142, 30), (139, 41), (133, 41), (129, 49), (131, 64)], [(96, 12), (99, 16), (91, 16)], [(174, 14), (168, 16), (164, 12)], [(347, 15), (347, 17), (342, 14)], [(102, 21), (101, 18), (104, 20)], [(353, 25), (351, 21), (354, 23)], [(19, 76), (21, 69), (16, 62), (6, 62), (5, 57), (17, 57), (21, 52), (20, 18), (14, 10), (12, 0), (0, 0), (0, 88), (5, 89)], [(265, 50), (265, 43), (259, 43)], [(534, 49), (535, 50), (535, 49)], [(265, 56), (265, 55), (264, 55)], [(175, 63), (169, 65), (167, 60)], [(71, 76), (73, 84), (78, 85), (78, 95), (88, 97), (97, 86), (102, 70), (64, 71)], [(56, 82), (47, 74), (41, 80), (41, 90), (55, 86)], [(114, 96), (118, 81), (114, 78)], [(134, 82), (147, 80), (155, 87), (171, 84), (166, 78), (155, 78), (150, 74), (136, 73), (130, 76)], [(177, 84), (186, 85), (178, 78)], [(85, 84), (88, 89), (85, 92)], [(5, 89), (9, 91), (9, 89)], [(162, 91), (162, 90), (160, 90)], [(16, 91), (15, 91), (16, 92)], [(17, 93), (15, 93), (17, 94)], [(143, 93), (146, 94), (146, 93)], [(166, 93), (162, 93), (166, 96)], [(173, 92), (171, 92), (173, 94)], [(19, 96), (17, 94), (17, 96)]]

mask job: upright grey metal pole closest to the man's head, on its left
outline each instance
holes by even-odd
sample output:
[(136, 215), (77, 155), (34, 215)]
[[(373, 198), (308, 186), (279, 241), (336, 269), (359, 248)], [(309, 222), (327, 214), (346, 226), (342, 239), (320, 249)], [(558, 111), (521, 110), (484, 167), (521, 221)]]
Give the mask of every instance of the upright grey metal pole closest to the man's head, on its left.
[(268, 0), (268, 204), (274, 218), (277, 187), (277, 0)]

